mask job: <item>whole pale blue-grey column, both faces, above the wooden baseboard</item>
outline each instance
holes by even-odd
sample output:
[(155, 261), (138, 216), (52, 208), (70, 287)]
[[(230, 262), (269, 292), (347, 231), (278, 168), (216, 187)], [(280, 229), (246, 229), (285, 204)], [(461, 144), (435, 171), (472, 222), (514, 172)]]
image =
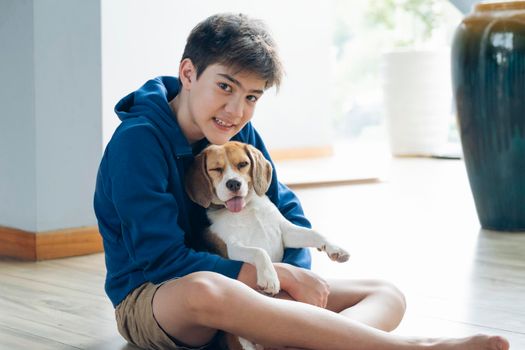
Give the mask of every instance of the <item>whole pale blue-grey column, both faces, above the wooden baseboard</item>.
[(100, 0), (0, 2), (0, 226), (96, 225)]

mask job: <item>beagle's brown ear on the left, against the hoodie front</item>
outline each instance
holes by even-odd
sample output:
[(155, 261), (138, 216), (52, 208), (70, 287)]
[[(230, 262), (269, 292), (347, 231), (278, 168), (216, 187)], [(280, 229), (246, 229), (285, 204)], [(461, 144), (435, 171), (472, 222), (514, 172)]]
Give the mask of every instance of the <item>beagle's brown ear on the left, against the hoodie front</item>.
[(213, 189), (206, 170), (206, 152), (201, 152), (195, 157), (184, 182), (190, 199), (201, 207), (208, 208), (213, 198)]

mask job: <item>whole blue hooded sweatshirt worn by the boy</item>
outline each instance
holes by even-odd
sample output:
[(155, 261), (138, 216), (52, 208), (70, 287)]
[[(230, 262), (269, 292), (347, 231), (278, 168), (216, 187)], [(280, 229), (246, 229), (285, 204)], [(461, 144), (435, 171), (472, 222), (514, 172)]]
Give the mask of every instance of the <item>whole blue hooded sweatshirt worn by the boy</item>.
[[(242, 262), (189, 247), (209, 223), (204, 208), (184, 190), (184, 174), (208, 141), (190, 145), (168, 102), (179, 91), (176, 77), (149, 80), (124, 97), (115, 112), (122, 121), (102, 157), (94, 208), (104, 241), (106, 293), (117, 306), (145, 282), (161, 283), (195, 271), (237, 278)], [(248, 123), (233, 140), (257, 147), (270, 159)], [(274, 170), (267, 192), (291, 222), (310, 227), (297, 197)], [(284, 262), (310, 268), (307, 249), (286, 249)]]

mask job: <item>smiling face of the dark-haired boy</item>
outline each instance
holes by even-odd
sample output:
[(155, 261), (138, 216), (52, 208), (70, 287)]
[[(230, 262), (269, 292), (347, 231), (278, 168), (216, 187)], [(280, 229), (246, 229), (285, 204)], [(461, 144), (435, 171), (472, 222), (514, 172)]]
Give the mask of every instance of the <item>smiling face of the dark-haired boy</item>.
[[(191, 61), (190, 65), (193, 67)], [(220, 64), (208, 66), (199, 79), (195, 69), (182, 72), (187, 97), (186, 123), (182, 126), (191, 143), (203, 137), (218, 145), (229, 141), (252, 119), (266, 84), (253, 73)]]

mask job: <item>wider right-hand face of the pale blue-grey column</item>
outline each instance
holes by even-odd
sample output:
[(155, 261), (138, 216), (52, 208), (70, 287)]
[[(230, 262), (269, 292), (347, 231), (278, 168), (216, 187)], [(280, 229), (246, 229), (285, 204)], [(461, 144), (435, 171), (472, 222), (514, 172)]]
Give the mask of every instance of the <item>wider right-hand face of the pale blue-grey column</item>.
[(99, 0), (34, 0), (37, 230), (95, 225)]

